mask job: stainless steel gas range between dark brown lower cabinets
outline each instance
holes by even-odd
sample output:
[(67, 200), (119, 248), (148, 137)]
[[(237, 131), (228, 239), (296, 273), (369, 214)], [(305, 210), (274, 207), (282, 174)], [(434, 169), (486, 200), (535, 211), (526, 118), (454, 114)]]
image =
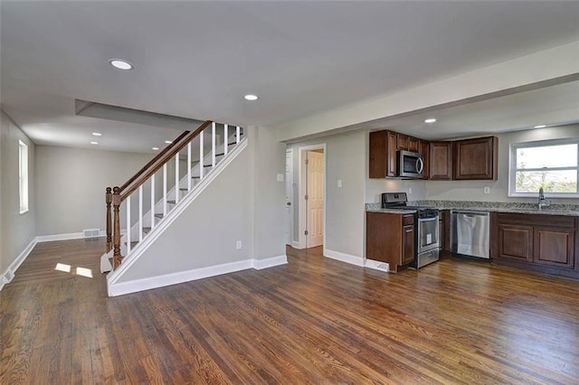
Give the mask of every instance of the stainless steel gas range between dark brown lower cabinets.
[(408, 206), (406, 192), (384, 192), (382, 208), (391, 210), (413, 210), (415, 238), (415, 256), (413, 268), (422, 268), (439, 259), (440, 242), (438, 231), (438, 209), (423, 206)]

